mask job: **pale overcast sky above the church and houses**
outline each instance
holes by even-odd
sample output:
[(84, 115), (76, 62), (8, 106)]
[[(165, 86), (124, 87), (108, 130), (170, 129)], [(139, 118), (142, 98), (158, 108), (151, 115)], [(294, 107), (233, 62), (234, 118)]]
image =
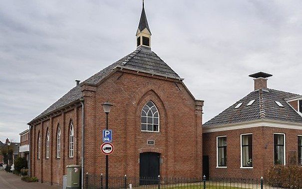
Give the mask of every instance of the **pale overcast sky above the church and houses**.
[[(0, 1), (0, 141), (136, 48), (141, 0)], [(302, 94), (301, 0), (145, 0), (152, 50), (205, 100), (204, 122), (253, 91)]]

